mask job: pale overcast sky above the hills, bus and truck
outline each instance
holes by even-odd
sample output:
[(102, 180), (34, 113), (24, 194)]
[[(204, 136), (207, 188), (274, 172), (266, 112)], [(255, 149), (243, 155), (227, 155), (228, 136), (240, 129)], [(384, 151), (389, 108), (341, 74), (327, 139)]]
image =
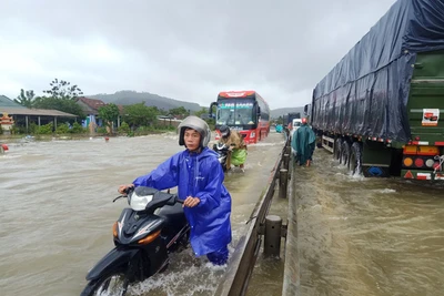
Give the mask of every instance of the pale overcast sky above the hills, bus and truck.
[(0, 94), (52, 79), (85, 94), (151, 92), (208, 106), (258, 91), (302, 106), (395, 0), (1, 0)]

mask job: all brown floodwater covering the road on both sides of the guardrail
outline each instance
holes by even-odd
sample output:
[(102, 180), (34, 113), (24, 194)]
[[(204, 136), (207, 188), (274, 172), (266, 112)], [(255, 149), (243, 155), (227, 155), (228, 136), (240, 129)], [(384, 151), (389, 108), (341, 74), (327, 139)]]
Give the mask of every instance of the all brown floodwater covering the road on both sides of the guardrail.
[[(11, 143), (0, 155), (0, 294), (79, 295), (87, 272), (112, 248), (111, 226), (123, 200), (117, 187), (181, 151), (175, 134)], [(233, 251), (283, 137), (249, 146), (245, 173), (229, 172)], [(346, 173), (316, 150), (312, 167), (295, 167), (300, 295), (444, 295), (444, 185)], [(286, 201), (272, 214), (285, 216)], [(284, 224), (286, 221), (284, 221)], [(282, 243), (281, 247), (284, 247)], [(281, 253), (282, 254), (282, 253)], [(131, 295), (213, 295), (224, 267), (173, 254), (168, 271)], [(282, 259), (259, 256), (249, 295), (278, 296)]]

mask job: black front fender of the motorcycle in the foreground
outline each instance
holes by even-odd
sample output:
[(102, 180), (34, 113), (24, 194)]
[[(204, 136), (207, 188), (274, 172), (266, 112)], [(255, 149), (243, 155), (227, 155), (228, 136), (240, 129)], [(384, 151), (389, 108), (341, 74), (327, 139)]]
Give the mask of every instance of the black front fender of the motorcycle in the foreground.
[(122, 268), (122, 266), (127, 267), (139, 252), (137, 248), (118, 249), (114, 247), (89, 271), (87, 280), (98, 279), (104, 274)]

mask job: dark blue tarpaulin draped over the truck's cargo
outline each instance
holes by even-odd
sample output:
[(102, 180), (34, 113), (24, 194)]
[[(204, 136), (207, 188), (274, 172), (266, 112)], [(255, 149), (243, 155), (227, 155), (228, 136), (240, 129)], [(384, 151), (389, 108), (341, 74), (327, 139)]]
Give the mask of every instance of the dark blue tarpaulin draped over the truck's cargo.
[(398, 0), (313, 91), (314, 129), (407, 142), (416, 54), (444, 49), (444, 0)]

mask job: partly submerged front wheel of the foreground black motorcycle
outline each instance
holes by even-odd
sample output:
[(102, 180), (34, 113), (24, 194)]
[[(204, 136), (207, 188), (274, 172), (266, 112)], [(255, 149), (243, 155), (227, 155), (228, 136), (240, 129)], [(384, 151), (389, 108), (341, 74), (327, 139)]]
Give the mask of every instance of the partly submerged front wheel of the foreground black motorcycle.
[(80, 296), (124, 296), (128, 285), (129, 280), (123, 273), (113, 273), (88, 283)]

